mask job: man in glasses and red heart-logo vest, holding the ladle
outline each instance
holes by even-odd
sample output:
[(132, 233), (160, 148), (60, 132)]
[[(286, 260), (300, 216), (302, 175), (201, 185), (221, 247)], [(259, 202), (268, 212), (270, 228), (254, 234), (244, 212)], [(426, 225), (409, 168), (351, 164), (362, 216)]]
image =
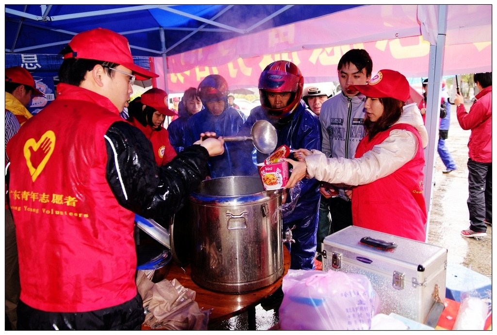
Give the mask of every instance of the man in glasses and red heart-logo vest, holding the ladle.
[(62, 54), (56, 100), (6, 148), (21, 282), (17, 328), (139, 330), (135, 213), (168, 220), (224, 141), (199, 140), (158, 167), (150, 141), (119, 116), (135, 78), (158, 77), (133, 63), (127, 39), (93, 29)]

